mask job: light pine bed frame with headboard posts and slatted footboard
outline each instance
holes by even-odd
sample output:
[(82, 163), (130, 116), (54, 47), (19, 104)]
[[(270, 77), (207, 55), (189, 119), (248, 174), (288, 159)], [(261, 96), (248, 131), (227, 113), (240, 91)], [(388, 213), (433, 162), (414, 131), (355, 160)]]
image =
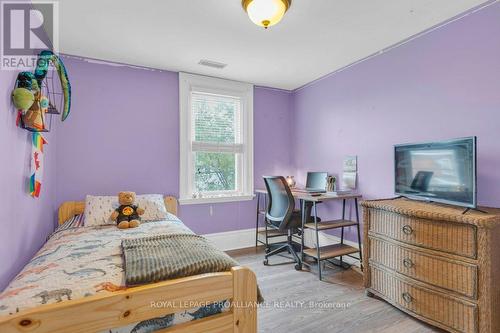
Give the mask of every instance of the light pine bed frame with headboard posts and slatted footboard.
[[(177, 214), (175, 197), (165, 197), (165, 205), (170, 213)], [(59, 208), (59, 224), (83, 213), (84, 207), (84, 202), (63, 203)], [(0, 332), (99, 332), (224, 300), (232, 302), (230, 311), (158, 332), (257, 332), (257, 281), (255, 274), (245, 267), (40, 305), (0, 316)]]

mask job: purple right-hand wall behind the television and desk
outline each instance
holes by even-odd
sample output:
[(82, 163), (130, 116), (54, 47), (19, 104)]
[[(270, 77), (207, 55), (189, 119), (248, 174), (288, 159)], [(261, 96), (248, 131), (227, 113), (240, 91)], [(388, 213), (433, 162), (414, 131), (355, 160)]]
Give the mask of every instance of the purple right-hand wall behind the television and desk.
[(498, 36), (500, 4), (297, 90), (297, 174), (358, 155), (360, 192), (390, 197), (394, 144), (477, 135), (479, 203), (500, 206)]

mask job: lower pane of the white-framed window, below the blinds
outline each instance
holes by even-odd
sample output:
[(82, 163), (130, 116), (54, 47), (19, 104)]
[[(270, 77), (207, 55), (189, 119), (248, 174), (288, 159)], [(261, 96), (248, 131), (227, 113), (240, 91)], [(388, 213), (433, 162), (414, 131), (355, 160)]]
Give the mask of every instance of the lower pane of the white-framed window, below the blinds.
[(235, 191), (236, 154), (196, 152), (195, 191)]

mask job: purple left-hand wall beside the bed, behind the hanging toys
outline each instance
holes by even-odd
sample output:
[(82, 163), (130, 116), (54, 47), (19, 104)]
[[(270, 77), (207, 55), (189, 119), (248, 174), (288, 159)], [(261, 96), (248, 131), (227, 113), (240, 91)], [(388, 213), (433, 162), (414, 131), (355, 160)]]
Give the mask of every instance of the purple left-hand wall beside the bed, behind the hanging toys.
[(0, 70), (0, 290), (33, 257), (54, 227), (56, 137), (54, 132), (44, 134), (49, 142), (44, 146), (44, 179), (41, 196), (34, 199), (28, 193), (31, 134), (16, 127), (10, 98), (16, 76), (15, 71)]

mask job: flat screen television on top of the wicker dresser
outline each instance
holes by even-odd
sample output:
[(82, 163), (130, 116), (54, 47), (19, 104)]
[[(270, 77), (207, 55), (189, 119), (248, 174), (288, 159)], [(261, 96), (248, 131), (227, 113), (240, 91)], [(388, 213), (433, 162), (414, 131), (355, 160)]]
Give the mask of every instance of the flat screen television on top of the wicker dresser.
[(477, 207), (476, 137), (394, 146), (395, 192)]

